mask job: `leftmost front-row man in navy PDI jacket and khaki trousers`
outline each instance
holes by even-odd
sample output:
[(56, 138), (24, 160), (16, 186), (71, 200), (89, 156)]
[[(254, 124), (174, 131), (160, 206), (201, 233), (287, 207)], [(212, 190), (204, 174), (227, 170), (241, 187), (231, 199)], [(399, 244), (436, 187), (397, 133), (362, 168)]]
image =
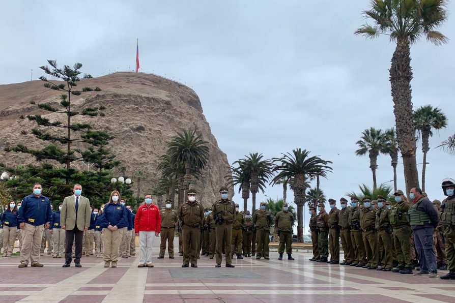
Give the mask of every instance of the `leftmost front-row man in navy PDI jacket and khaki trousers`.
[(44, 228), (49, 228), (52, 210), (49, 199), (41, 195), (42, 190), (41, 184), (35, 184), (33, 193), (23, 198), (19, 209), (17, 218), (23, 238), (18, 267), (27, 267), (29, 259), (32, 267), (43, 267), (40, 263), (41, 239)]

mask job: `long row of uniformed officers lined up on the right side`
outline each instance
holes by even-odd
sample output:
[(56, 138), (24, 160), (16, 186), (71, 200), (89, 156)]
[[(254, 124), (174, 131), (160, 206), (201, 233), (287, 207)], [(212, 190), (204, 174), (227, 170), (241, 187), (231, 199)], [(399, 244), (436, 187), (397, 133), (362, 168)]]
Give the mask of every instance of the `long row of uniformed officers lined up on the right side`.
[[(437, 220), (432, 221), (430, 215), (418, 207), (421, 201), (427, 199), (425, 193), (411, 203), (402, 190), (394, 193), (393, 202), (382, 196), (376, 200), (365, 196), (361, 202), (352, 197), (348, 206), (348, 200), (341, 198), (341, 209), (336, 207), (336, 200), (329, 199), (329, 213), (324, 203), (319, 203), (317, 208), (310, 205), (309, 228), (313, 252), (310, 261), (413, 274), (412, 269), (419, 267), (414, 234), (420, 227), (431, 226), (437, 267), (449, 270), (440, 278), (455, 279), (455, 181), (444, 179), (442, 189), (447, 198), (442, 202), (433, 201), (439, 222), (433, 222)], [(339, 238), (344, 251), (343, 262), (339, 260)], [(419, 243), (419, 246), (424, 245)], [(420, 256), (420, 259), (427, 257)], [(425, 265), (421, 261), (420, 265), (426, 267), (427, 263), (428, 260)], [(426, 271), (428, 268), (420, 269), (420, 274), (415, 275), (437, 277), (437, 271), (433, 275)]]

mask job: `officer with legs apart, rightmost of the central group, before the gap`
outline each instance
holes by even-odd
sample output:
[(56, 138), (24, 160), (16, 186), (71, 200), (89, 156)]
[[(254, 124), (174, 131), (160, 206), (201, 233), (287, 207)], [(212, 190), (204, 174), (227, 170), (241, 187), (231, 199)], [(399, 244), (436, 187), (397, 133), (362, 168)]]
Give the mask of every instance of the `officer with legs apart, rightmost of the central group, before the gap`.
[(275, 216), (275, 227), (278, 229), (279, 246), (278, 260), (283, 259), (283, 253), (288, 254), (288, 260), (294, 260), (292, 257), (292, 226), (294, 225), (294, 216), (289, 211), (288, 203), (283, 204), (283, 210)]

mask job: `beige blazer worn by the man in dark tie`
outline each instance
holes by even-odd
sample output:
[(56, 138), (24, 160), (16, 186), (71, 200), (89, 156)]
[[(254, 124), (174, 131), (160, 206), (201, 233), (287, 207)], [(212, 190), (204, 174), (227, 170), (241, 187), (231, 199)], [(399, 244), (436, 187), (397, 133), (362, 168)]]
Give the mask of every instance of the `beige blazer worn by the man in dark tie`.
[(74, 195), (72, 195), (63, 200), (62, 210), (60, 211), (60, 226), (65, 226), (66, 230), (72, 230), (76, 225), (78, 230), (84, 230), (85, 226), (90, 226), (90, 201), (86, 197), (79, 196), (76, 222), (76, 202)]

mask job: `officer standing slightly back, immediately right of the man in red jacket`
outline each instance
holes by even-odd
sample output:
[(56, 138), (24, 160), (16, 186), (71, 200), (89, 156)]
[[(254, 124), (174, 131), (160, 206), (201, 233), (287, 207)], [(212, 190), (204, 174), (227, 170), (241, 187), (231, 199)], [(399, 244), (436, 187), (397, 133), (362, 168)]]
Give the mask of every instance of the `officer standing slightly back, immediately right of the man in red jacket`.
[(175, 209), (172, 209), (172, 200), (166, 200), (166, 207), (160, 210), (160, 215), (161, 244), (158, 259), (164, 258), (164, 252), (166, 251), (166, 241), (169, 259), (174, 259), (174, 234), (177, 223), (177, 211)]

